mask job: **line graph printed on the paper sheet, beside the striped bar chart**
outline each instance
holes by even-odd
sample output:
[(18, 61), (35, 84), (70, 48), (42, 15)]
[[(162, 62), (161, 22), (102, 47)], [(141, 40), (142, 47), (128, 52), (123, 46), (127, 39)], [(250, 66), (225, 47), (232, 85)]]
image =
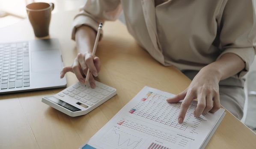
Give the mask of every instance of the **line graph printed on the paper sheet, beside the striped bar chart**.
[(101, 141), (112, 149), (138, 149), (143, 138), (114, 126)]

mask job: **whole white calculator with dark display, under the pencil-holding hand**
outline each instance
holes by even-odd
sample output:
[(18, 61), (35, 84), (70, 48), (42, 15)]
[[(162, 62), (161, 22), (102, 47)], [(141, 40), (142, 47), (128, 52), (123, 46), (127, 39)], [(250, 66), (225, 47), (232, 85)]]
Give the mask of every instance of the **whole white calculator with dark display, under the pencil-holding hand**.
[(116, 95), (116, 89), (95, 81), (96, 88), (76, 83), (53, 96), (42, 97), (42, 102), (71, 116), (86, 115)]

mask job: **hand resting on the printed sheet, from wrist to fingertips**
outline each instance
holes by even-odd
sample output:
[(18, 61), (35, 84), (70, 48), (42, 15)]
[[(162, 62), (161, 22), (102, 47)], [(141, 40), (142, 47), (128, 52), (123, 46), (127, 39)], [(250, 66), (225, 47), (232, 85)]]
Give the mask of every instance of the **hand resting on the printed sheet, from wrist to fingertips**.
[(199, 117), (202, 113), (214, 113), (220, 109), (219, 81), (220, 73), (206, 66), (196, 74), (185, 91), (167, 99), (169, 103), (177, 103), (183, 100), (178, 116), (179, 123), (183, 122), (193, 99), (197, 98), (196, 110), (194, 111), (196, 117)]

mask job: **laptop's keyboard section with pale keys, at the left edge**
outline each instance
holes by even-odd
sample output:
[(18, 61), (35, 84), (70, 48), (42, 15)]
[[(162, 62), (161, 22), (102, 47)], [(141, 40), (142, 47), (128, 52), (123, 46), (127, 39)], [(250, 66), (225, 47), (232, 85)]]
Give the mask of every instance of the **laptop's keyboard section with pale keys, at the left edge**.
[(28, 42), (0, 44), (0, 89), (30, 86)]

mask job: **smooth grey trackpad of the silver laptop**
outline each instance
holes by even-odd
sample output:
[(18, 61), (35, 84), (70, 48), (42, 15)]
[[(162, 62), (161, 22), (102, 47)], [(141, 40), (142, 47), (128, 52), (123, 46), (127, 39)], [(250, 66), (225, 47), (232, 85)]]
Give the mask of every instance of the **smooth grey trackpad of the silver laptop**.
[(60, 52), (57, 49), (31, 51), (32, 72), (59, 71), (61, 67)]

